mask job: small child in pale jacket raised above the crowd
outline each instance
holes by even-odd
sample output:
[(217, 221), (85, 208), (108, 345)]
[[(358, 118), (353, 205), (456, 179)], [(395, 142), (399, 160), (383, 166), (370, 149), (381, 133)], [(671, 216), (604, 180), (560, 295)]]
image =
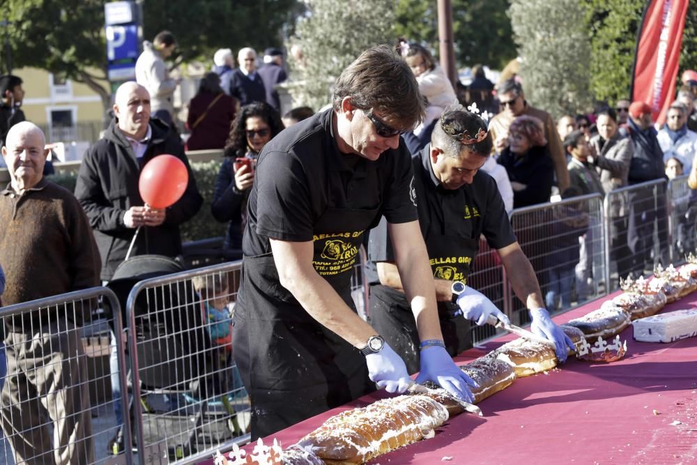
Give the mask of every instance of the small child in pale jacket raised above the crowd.
[(414, 134), (419, 135), (441, 117), (445, 107), (457, 101), (457, 96), (443, 68), (427, 49), (418, 44), (400, 42), (400, 52), (416, 77), (421, 95), (427, 99), (426, 118), (414, 130)]

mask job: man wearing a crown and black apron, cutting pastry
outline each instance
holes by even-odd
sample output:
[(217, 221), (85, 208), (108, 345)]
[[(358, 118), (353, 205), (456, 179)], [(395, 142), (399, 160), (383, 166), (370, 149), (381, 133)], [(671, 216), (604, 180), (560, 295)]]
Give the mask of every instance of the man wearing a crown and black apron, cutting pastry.
[[(455, 356), (472, 345), (469, 320), (482, 325), (493, 316), (509, 322), (484, 295), (470, 287), (457, 289), (467, 280), (483, 234), (501, 257), (516, 296), (531, 309), (532, 330), (553, 340), (559, 360), (566, 360), (571, 341), (544, 309), (533, 267), (516, 241), (496, 181), (479, 171), (490, 152), (486, 123), (457, 105), (445, 110), (431, 144), (412, 158), (419, 224), (436, 284), (445, 346)], [(369, 259), (378, 275), (371, 286), (370, 321), (390, 346), (406, 354), (408, 372), (413, 373), (420, 366), (418, 334), (385, 226), (381, 221), (369, 237)]]

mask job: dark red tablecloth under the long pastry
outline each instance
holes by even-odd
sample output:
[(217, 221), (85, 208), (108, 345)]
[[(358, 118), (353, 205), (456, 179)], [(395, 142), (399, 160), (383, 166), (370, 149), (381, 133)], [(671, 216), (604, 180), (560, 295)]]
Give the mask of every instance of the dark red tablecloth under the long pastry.
[[(609, 297), (608, 297), (609, 298)], [(603, 300), (554, 320), (565, 323)], [(697, 294), (665, 311), (697, 307)], [(697, 463), (697, 339), (649, 344), (632, 339), (623, 360), (596, 364), (569, 359), (560, 369), (516, 379), (463, 413), (436, 437), (374, 459), (371, 464), (695, 464)], [(513, 337), (507, 335), (455, 359), (467, 363)], [(384, 397), (376, 392), (284, 429), (291, 445), (330, 416)], [(678, 423), (679, 422), (679, 423)], [(266, 442), (270, 439), (265, 439)]]

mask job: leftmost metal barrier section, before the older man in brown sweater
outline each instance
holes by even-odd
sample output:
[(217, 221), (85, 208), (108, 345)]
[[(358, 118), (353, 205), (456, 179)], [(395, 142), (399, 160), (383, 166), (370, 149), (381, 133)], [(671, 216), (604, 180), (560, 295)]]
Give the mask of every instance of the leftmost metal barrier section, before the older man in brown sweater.
[[(109, 341), (112, 331), (123, 330), (114, 293), (95, 287), (8, 305), (0, 319), (8, 368), (0, 395), (0, 462), (130, 464), (130, 455), (107, 457), (118, 431)], [(120, 338), (116, 349), (124, 404)], [(130, 443), (128, 416), (123, 431)]]

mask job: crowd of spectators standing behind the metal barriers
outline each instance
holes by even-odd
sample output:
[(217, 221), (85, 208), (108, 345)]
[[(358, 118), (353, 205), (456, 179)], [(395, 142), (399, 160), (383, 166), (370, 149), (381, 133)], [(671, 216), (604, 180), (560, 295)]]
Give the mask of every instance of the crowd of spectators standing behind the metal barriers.
[[(21, 122), (24, 114), (15, 105), (24, 94), (22, 81), (14, 76), (0, 78), (0, 142), (3, 160), (12, 178), (0, 196), (3, 201), (0, 213), (6, 217), (3, 222), (6, 226), (0, 234), (0, 264), (7, 275), (3, 304), (84, 289), (99, 280), (106, 283), (112, 279), (116, 266), (126, 259), (130, 247), (134, 254), (167, 257), (181, 254), (179, 227), (199, 211), (203, 199), (174, 124), (172, 95), (178, 80), (169, 77), (165, 63), (174, 49), (176, 40), (167, 31), (155, 36), (152, 43), (144, 43), (144, 52), (136, 65), (137, 82), (125, 83), (116, 91), (114, 119), (102, 139), (84, 155), (75, 196), (43, 178), (47, 155), (45, 138), (35, 125)], [(423, 142), (430, 140), (431, 130), (445, 107), (456, 99), (456, 92), (427, 49), (402, 40), (399, 52), (428, 102), (425, 121), (404, 134), (405, 143), (417, 153)], [(312, 109), (300, 107), (281, 118), (276, 86), (287, 79), (282, 57), (281, 50), (266, 49), (263, 66), (257, 68), (256, 52), (245, 47), (238, 52), (238, 66), (235, 66), (231, 50), (220, 49), (215, 53), (212, 71), (201, 79), (199, 91), (189, 102), (187, 148), (223, 149), (212, 213), (217, 221), (229, 224), (224, 241), (227, 250), (241, 248), (257, 156), (284, 127), (313, 114)], [(684, 83), (660, 130), (652, 121), (649, 105), (629, 100), (619, 100), (614, 106), (602, 105), (592, 114), (563, 115), (555, 122), (544, 109), (528, 104), (519, 79), (507, 79), (494, 87), (482, 68), (475, 72), (469, 91), (472, 99), (463, 102), (466, 105), (479, 101), (486, 105), (487, 111), (500, 109), (489, 121), (493, 156), (482, 170), (496, 179), (507, 213), (513, 208), (545, 204), (555, 192), (560, 193), (562, 199), (606, 195), (627, 185), (681, 174), (690, 174), (691, 187), (697, 188), (695, 81)], [(162, 153), (176, 156), (189, 171), (189, 184), (183, 197), (166, 209), (147, 206), (138, 190), (141, 168)], [(26, 201), (20, 202), (24, 199)], [(43, 202), (44, 199), (49, 202)], [(694, 196), (680, 201), (687, 205), (684, 209), (691, 213), (694, 222), (694, 208), (691, 208)], [(51, 205), (48, 209), (43, 206), (47, 204)], [(652, 208), (652, 197), (635, 192), (629, 201), (610, 207), (608, 227), (617, 244), (611, 253), (620, 276), (630, 272), (641, 274), (665, 258), (654, 256), (654, 227), (667, 229), (667, 218), (664, 212)], [(572, 289), (575, 289), (576, 300), (588, 295), (593, 244), (598, 241), (593, 237), (597, 224), (580, 204), (557, 208), (553, 218), (551, 234), (558, 241), (554, 241), (545, 254), (530, 258), (539, 282), (550, 284), (546, 294), (550, 310), (572, 305)], [(690, 226), (689, 216), (685, 220), (678, 236), (683, 243), (688, 243), (690, 236), (694, 236), (694, 226)], [(36, 226), (28, 226), (31, 224)], [(531, 228), (528, 234), (530, 237), (521, 238), (521, 243), (536, 236), (549, 236), (550, 231), (539, 225)], [(77, 237), (82, 241), (69, 240)], [(17, 242), (18, 238), (22, 241)], [(42, 246), (36, 247), (36, 244)], [(26, 266), (29, 262), (33, 266)], [(46, 270), (51, 271), (52, 277), (44, 276)], [(543, 271), (544, 277), (541, 277), (539, 273)], [(38, 280), (55, 286), (26, 286)], [(201, 289), (204, 288), (201, 285)], [(51, 325), (58, 325), (59, 320), (47, 317), (43, 323), (49, 327), (36, 330), (50, 332)], [(224, 318), (216, 321), (222, 326), (227, 324)], [(63, 321), (63, 326), (67, 324), (67, 327), (61, 330), (67, 339), (56, 342), (55, 357), (66, 356), (64, 352), (74, 345), (75, 328), (79, 328), (80, 323)], [(26, 324), (31, 327), (32, 323)], [(23, 337), (25, 333), (12, 328), (6, 333), (10, 369), (21, 371), (26, 354), (17, 353), (14, 347), (22, 344)], [(53, 370), (52, 375), (59, 381), (61, 375), (71, 375), (61, 374), (51, 367), (46, 369)], [(79, 379), (84, 369), (75, 369), (82, 373), (75, 374)], [(86, 384), (79, 386), (84, 388)], [(45, 386), (37, 383), (34, 388), (43, 390)], [(24, 384), (8, 383), (2, 391), (2, 404), (19, 404), (17, 399), (25, 389)], [(117, 399), (119, 393), (114, 391), (113, 394)], [(84, 411), (85, 399), (89, 399), (84, 392), (76, 391), (71, 395), (75, 397), (74, 402), (61, 404), (63, 411), (60, 413), (66, 418), (73, 412)], [(116, 414), (120, 421), (123, 412)], [(54, 416), (51, 412), (41, 415)], [(47, 442), (49, 434), (41, 434), (45, 427), (38, 425), (41, 415), (36, 418), (8, 416), (3, 408), (3, 430), (6, 436), (25, 441), (22, 447), (29, 447), (32, 454), (63, 454), (69, 462), (91, 462), (91, 447), (67, 450), (67, 443), (61, 443), (56, 452), (52, 452), (56, 444)], [(22, 422), (17, 423), (19, 418)], [(66, 438), (75, 436), (89, 441), (91, 433), (86, 427), (89, 418), (75, 424), (54, 420), (61, 441), (61, 432), (65, 432)], [(31, 437), (20, 434), (26, 429), (33, 432)], [(10, 445), (15, 456), (21, 458), (20, 445)], [(117, 446), (123, 448), (123, 444)]]

